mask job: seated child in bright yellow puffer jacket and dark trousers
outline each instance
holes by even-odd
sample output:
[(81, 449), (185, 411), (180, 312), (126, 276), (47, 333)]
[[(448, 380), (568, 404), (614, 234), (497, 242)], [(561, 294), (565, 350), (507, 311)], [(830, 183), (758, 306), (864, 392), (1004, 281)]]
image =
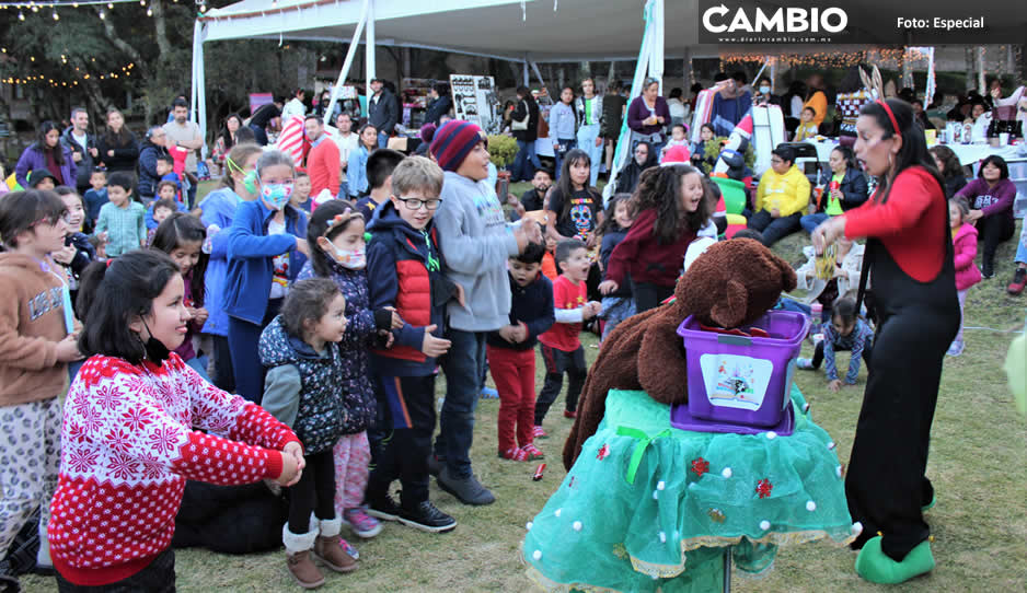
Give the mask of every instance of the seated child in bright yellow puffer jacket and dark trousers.
[(771, 154), (771, 168), (760, 179), (755, 213), (749, 219), (749, 228), (763, 233), (768, 247), (799, 231), (810, 195), (809, 179), (795, 166), (795, 151), (782, 144)]

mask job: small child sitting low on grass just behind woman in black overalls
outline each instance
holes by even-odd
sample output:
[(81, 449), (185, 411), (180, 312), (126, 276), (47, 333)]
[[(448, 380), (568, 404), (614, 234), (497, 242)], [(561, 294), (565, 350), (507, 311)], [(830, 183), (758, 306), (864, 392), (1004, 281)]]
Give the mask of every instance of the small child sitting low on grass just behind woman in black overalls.
[(856, 302), (849, 296), (834, 301), (831, 307), (831, 323), (823, 326), (823, 339), (817, 342), (812, 360), (799, 358), (796, 367), (799, 369), (819, 369), (820, 363), (827, 361), (824, 371), (828, 375), (828, 388), (838, 393), (842, 380), (838, 377), (838, 368), (834, 365), (834, 352), (850, 350), (849, 372), (845, 373), (845, 385), (855, 385), (859, 376), (859, 357), (866, 361), (867, 370), (870, 368), (870, 354), (874, 350), (874, 332), (856, 312)]

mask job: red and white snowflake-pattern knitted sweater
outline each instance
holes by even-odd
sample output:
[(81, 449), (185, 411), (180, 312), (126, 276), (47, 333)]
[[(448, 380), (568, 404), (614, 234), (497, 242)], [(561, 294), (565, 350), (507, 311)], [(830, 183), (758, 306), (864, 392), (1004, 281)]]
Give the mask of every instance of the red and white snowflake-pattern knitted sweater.
[(55, 568), (80, 585), (135, 574), (171, 544), (187, 479), (277, 478), (289, 441), (299, 442), (287, 426), (210, 385), (177, 354), (160, 368), (90, 358), (65, 403), (47, 530)]

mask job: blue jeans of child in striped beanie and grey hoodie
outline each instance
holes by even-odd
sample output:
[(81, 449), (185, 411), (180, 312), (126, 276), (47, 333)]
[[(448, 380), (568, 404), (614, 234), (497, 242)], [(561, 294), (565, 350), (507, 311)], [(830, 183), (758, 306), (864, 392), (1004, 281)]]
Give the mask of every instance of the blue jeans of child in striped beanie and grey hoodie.
[(458, 479), (471, 475), (474, 409), (482, 395), (486, 335), (485, 332), (452, 328), (446, 332), (446, 339), (452, 344), (449, 353), (442, 358), (446, 400), (442, 403), (439, 435), (435, 440), (435, 454), (439, 460), (446, 460), (449, 475)]

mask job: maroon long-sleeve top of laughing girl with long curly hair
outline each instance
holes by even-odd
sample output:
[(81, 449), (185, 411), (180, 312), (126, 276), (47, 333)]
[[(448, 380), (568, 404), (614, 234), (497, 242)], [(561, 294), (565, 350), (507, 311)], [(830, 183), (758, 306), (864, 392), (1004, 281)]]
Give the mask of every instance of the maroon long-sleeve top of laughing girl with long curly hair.
[(660, 245), (653, 234), (654, 224), (655, 208), (638, 212), (627, 236), (610, 254), (607, 279), (623, 284), (624, 277), (630, 272), (633, 282), (672, 287), (678, 281), (678, 274), (684, 266), (684, 254), (695, 240), (695, 231), (685, 230), (676, 242)]

